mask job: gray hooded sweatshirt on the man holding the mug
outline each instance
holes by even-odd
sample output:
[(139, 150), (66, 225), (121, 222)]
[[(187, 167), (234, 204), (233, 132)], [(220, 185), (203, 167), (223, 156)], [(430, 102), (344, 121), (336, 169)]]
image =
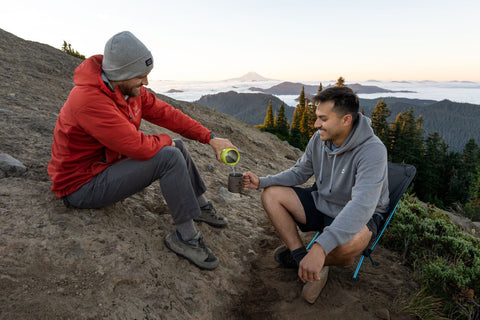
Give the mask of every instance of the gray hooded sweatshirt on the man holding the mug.
[(301, 185), (315, 176), (315, 206), (335, 218), (316, 240), (325, 254), (350, 241), (374, 212), (385, 213), (389, 202), (387, 150), (373, 133), (369, 118), (359, 114), (340, 148), (330, 147), (331, 141), (322, 141), (317, 131), (295, 166), (260, 178), (260, 188), (266, 188)]

